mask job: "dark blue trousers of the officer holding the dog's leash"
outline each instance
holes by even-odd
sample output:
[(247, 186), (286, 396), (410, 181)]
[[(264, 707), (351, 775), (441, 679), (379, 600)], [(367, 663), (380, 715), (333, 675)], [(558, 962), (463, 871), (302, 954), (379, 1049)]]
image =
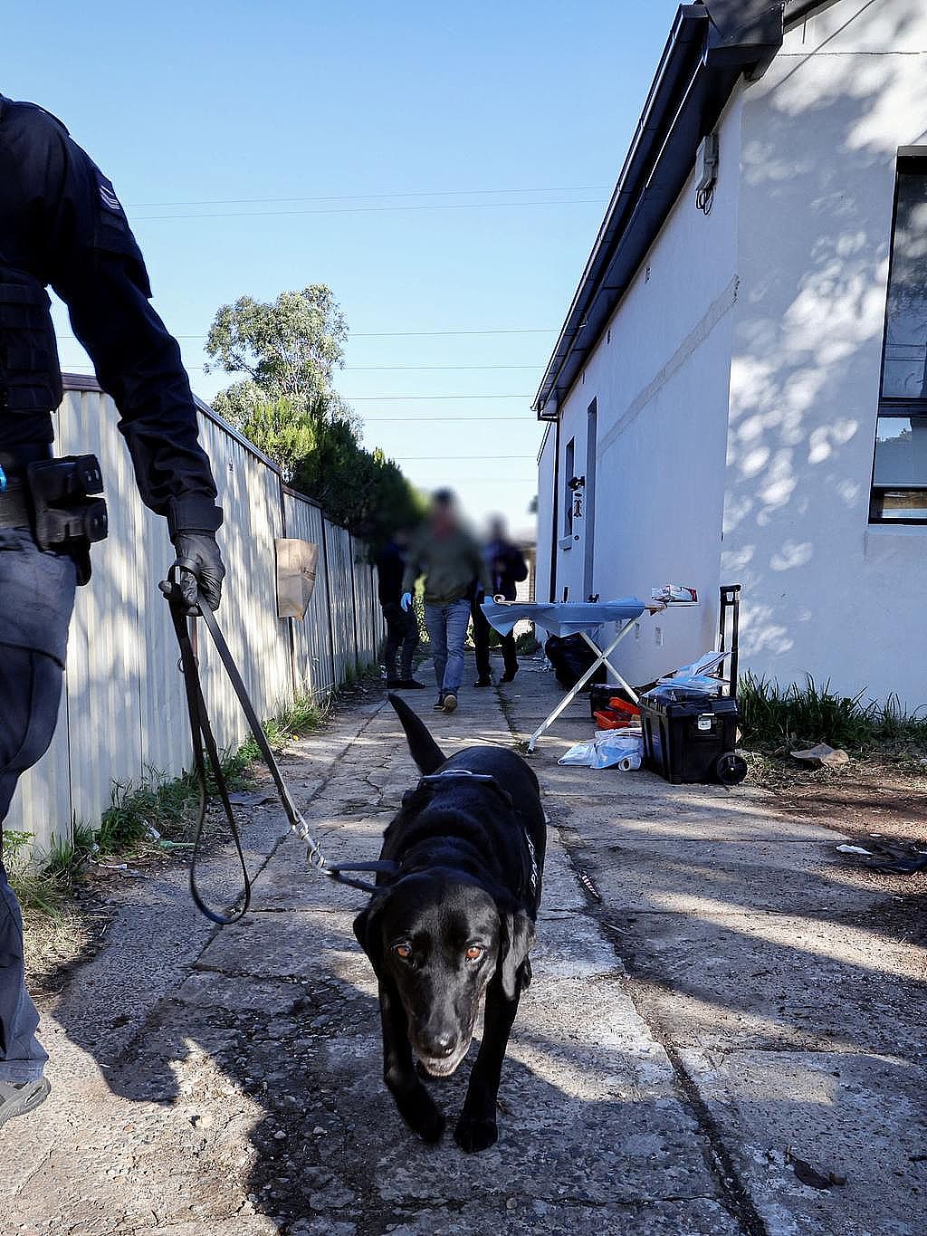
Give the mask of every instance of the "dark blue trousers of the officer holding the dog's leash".
[[(42, 552), (26, 531), (0, 530), (0, 840), (16, 784), (54, 734), (74, 582), (70, 559)], [(42, 1075), (47, 1056), (37, 1026), (20, 907), (0, 863), (0, 1082)]]

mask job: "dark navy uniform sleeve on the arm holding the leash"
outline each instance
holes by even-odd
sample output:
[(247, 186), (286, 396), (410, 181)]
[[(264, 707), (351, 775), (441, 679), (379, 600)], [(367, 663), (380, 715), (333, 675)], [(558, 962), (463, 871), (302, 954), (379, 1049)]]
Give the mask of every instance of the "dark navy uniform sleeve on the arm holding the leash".
[(111, 183), (64, 135), (49, 133), (42, 199), (46, 279), (64, 300), (120, 413), (142, 499), (178, 528), (215, 530), (222, 513), (177, 341), (152, 308), (138, 245)]

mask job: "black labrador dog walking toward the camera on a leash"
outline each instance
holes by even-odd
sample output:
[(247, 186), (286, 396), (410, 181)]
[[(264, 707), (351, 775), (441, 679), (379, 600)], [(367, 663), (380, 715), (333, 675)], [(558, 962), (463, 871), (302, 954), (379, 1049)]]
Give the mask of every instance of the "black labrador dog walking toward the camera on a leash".
[(450, 1077), (467, 1054), (480, 1000), (483, 1037), (454, 1136), (465, 1151), (497, 1137), (496, 1095), (541, 896), (546, 829), (538, 779), (514, 751), (470, 747), (445, 759), (391, 695), (423, 772), (383, 834), (377, 891), (353, 923), (379, 986), (383, 1078), (426, 1142), (444, 1116), (415, 1069)]

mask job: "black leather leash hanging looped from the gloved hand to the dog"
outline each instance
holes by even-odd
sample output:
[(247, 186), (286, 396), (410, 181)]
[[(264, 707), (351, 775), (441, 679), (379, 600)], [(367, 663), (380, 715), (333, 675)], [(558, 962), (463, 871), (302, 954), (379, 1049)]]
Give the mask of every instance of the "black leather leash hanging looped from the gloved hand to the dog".
[[(183, 565), (180, 570), (187, 570)], [(255, 742), (261, 751), (261, 756), (267, 765), (271, 774), (273, 784), (277, 789), (277, 795), (279, 796), (281, 803), (283, 805), (283, 811), (286, 812), (287, 819), (289, 821), (290, 831), (297, 833), (297, 836), (305, 843), (307, 847), (307, 860), (309, 866), (318, 871), (319, 875), (326, 876), (329, 880), (334, 880), (336, 884), (346, 884), (353, 889), (362, 889), (365, 892), (373, 892), (376, 890), (375, 884), (370, 884), (366, 880), (356, 880), (350, 875), (345, 875), (345, 871), (381, 871), (394, 874), (397, 870), (396, 863), (389, 861), (376, 861), (376, 863), (329, 863), (319, 843), (315, 840), (313, 834), (309, 832), (309, 826), (303, 818), (299, 808), (293, 802), (289, 790), (281, 775), (279, 766), (274, 758), (271, 745), (267, 742), (267, 735), (263, 732), (263, 727), (255, 712), (255, 707), (245, 686), (245, 681), (239, 672), (239, 667), (229, 651), (229, 645), (225, 641), (225, 637), (219, 629), (219, 624), (215, 620), (213, 611), (206, 604), (205, 599), (200, 593), (200, 603), (194, 614), (189, 614), (189, 607), (183, 599), (180, 588), (177, 582), (176, 576), (177, 567), (172, 567), (168, 574), (168, 587), (163, 588), (164, 596), (171, 606), (171, 618), (174, 624), (174, 633), (177, 634), (177, 643), (180, 648), (180, 670), (183, 672), (184, 687), (187, 691), (187, 711), (190, 718), (190, 735), (193, 738), (193, 760), (197, 772), (197, 782), (199, 786), (199, 816), (197, 821), (197, 834), (193, 843), (193, 853), (190, 855), (190, 896), (193, 897), (194, 905), (214, 923), (221, 926), (227, 926), (229, 923), (237, 922), (245, 913), (247, 913), (248, 906), (251, 905), (251, 878), (248, 876), (247, 863), (245, 860), (245, 852), (241, 845), (241, 837), (239, 834), (239, 828), (235, 822), (235, 812), (232, 811), (231, 800), (229, 798), (229, 787), (222, 774), (222, 769), (219, 760), (219, 749), (216, 747), (215, 737), (213, 734), (213, 727), (209, 722), (209, 713), (206, 711), (206, 703), (203, 697), (203, 687), (200, 685), (199, 669), (197, 665), (197, 654), (193, 650), (193, 640), (190, 639), (190, 628), (188, 623), (188, 617), (200, 617), (205, 623), (206, 630), (210, 634), (215, 649), (219, 653), (219, 659), (225, 667), (225, 672), (229, 676), (229, 681), (232, 685), (235, 695), (239, 697), (239, 703), (242, 707), (247, 723), (251, 727), (251, 733), (255, 735)], [(209, 802), (209, 774), (206, 769), (206, 756), (209, 756), (209, 764), (213, 770), (213, 780), (215, 781), (216, 792), (222, 802), (222, 808), (225, 811), (225, 817), (229, 821), (229, 828), (231, 829), (232, 839), (235, 842), (235, 849), (239, 854), (239, 861), (241, 864), (242, 873), (242, 891), (240, 894), (239, 901), (240, 906), (230, 915), (221, 915), (213, 910), (203, 900), (197, 884), (197, 863), (199, 860), (200, 849), (203, 844), (203, 831), (206, 819), (206, 805)]]

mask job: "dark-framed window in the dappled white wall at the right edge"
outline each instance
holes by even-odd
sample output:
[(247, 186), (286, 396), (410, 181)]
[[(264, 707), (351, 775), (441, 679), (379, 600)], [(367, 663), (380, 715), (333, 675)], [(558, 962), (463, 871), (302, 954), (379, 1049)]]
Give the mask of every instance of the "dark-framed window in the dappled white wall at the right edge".
[(927, 158), (923, 156), (899, 159), (869, 518), (873, 523), (927, 524)]

